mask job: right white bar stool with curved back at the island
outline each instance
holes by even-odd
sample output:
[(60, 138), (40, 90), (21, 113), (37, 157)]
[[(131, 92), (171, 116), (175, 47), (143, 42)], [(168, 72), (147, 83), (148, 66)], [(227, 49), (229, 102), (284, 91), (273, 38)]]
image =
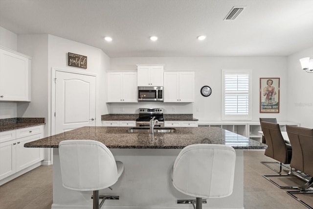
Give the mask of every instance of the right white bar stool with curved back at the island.
[(173, 186), (180, 192), (196, 197), (178, 200), (202, 209), (202, 198), (231, 195), (234, 185), (236, 152), (222, 144), (193, 144), (183, 148), (173, 166)]

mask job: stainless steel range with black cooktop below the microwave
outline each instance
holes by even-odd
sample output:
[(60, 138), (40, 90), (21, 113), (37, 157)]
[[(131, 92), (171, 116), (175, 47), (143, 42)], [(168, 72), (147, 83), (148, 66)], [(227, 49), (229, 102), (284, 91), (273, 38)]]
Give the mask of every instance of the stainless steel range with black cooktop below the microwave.
[(150, 120), (155, 119), (155, 127), (164, 127), (163, 108), (139, 108), (139, 117), (136, 119), (136, 127), (149, 127)]

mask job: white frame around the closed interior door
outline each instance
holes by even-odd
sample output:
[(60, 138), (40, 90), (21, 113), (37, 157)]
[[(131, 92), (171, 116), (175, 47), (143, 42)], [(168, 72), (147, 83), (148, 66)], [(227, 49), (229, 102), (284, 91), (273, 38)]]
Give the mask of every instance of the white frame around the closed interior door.
[(81, 75), (88, 75), (94, 76), (96, 79), (96, 107), (95, 107), (95, 125), (97, 125), (97, 113), (98, 113), (98, 75), (96, 73), (89, 73), (83, 71), (76, 71), (76, 70), (67, 70), (67, 69), (60, 69), (60, 68), (52, 68), (52, 76), (51, 76), (51, 136), (55, 135), (55, 79), (56, 79), (56, 72), (66, 72), (66, 73), (73, 73), (73, 74), (81, 74)]

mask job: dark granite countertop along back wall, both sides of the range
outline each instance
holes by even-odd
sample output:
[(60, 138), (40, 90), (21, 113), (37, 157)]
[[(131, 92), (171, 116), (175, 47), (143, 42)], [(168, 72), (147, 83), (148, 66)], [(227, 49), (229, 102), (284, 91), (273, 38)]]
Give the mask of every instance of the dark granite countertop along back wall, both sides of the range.
[[(193, 114), (163, 114), (164, 121), (198, 121)], [(101, 120), (136, 120), (139, 114), (107, 114), (102, 115)]]

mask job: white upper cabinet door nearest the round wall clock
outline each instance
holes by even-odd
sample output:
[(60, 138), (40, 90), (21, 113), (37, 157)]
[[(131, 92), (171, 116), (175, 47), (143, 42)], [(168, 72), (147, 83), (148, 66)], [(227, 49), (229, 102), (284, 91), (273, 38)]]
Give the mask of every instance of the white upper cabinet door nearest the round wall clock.
[(194, 102), (194, 72), (179, 72), (179, 102)]

